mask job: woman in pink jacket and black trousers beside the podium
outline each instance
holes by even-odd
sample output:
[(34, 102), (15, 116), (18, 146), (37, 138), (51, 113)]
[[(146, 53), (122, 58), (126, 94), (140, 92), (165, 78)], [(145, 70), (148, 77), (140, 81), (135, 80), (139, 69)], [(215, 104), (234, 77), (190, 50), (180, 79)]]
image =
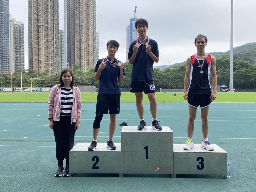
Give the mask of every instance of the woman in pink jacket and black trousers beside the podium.
[(72, 71), (65, 68), (61, 71), (59, 84), (52, 87), (48, 102), (49, 127), (54, 132), (58, 160), (55, 177), (69, 176), (69, 151), (74, 146), (75, 132), (80, 126), (81, 110), (81, 92), (75, 85)]

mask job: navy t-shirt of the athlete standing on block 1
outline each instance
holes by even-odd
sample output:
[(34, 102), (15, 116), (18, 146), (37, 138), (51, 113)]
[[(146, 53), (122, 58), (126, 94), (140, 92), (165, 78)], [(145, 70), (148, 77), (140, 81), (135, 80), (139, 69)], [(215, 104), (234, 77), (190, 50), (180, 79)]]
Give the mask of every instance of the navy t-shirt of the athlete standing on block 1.
[[(133, 46), (136, 44), (133, 41), (129, 48), (128, 59), (132, 57)], [(148, 44), (151, 47), (151, 52), (159, 57), (158, 45), (155, 40), (149, 39)], [(153, 64), (154, 61), (150, 58), (146, 52), (146, 45), (141, 44), (138, 48), (136, 58), (132, 65), (132, 81), (154, 81), (153, 78)]]

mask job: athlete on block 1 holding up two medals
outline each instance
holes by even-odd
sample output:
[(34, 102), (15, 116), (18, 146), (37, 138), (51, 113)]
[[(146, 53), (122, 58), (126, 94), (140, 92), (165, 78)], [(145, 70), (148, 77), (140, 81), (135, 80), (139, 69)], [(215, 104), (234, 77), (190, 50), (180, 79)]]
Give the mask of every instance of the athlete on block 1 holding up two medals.
[(155, 40), (150, 39), (146, 32), (148, 21), (138, 19), (135, 28), (139, 33), (139, 38), (133, 41), (129, 48), (128, 59), (132, 65), (131, 92), (135, 93), (136, 107), (140, 117), (138, 130), (144, 130), (146, 122), (143, 118), (144, 108), (142, 104), (142, 92), (148, 95), (150, 102), (150, 112), (152, 115), (151, 127), (155, 130), (162, 130), (159, 121), (156, 119), (156, 96), (155, 83), (153, 78), (153, 64), (159, 61), (158, 45)]

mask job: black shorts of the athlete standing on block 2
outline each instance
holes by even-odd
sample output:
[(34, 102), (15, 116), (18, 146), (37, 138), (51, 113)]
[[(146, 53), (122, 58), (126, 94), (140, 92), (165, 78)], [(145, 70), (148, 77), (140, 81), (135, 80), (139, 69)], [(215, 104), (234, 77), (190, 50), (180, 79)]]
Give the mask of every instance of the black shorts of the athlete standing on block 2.
[(96, 104), (96, 114), (119, 114), (120, 113), (120, 96), (121, 95), (107, 95), (98, 94)]

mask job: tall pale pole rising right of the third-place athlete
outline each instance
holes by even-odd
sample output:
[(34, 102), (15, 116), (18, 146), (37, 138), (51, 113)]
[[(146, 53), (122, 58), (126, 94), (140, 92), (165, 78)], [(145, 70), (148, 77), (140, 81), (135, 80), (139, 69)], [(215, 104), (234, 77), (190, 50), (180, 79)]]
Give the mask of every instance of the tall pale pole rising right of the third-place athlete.
[(230, 67), (229, 67), (229, 90), (233, 89), (234, 69), (234, 0), (231, 0), (231, 30), (230, 30)]

